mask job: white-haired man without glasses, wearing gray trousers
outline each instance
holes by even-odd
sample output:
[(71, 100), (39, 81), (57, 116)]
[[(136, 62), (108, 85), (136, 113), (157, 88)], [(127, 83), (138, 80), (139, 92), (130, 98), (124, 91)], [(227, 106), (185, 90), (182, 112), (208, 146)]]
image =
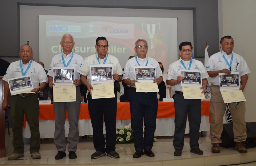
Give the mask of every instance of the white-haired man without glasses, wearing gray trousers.
[[(55, 159), (63, 159), (66, 156), (66, 145), (68, 145), (68, 157), (70, 159), (77, 158), (76, 150), (77, 143), (79, 141), (78, 131), (78, 120), (82, 96), (80, 93), (80, 74), (77, 72), (78, 67), (82, 64), (83, 58), (75, 54), (72, 49), (75, 45), (73, 36), (70, 34), (64, 34), (61, 37), (60, 42), (63, 52), (53, 57), (50, 68), (48, 71), (49, 87), (52, 88), (55, 84), (53, 83), (53, 67), (74, 67), (75, 68), (75, 80), (73, 84), (76, 86), (76, 101), (75, 102), (53, 102), (53, 109), (55, 112), (55, 132), (54, 132), (54, 143), (58, 150)], [(68, 138), (65, 138), (65, 121), (66, 121), (66, 110), (68, 109), (68, 121), (69, 131)]]

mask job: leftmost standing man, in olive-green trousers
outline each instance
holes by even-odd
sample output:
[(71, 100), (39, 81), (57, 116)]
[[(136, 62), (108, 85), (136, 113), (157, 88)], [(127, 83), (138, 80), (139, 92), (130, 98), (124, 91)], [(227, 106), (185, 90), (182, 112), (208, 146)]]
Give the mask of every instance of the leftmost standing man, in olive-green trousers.
[[(46, 87), (47, 76), (43, 67), (32, 61), (31, 58), (34, 55), (32, 48), (24, 44), (19, 51), (20, 61), (12, 62), (8, 67), (4, 82), (4, 100), (3, 109), (8, 107), (8, 93), (9, 83), (8, 79), (21, 77), (25, 75), (30, 76), (30, 80), (33, 83), (34, 89), (31, 92), (11, 96), (11, 119), (13, 122), (13, 154), (8, 157), (8, 160), (16, 160), (20, 157), (24, 157), (24, 142), (23, 142), (23, 121), (24, 114), (29, 124), (31, 131), (30, 148), (29, 152), (33, 159), (40, 159), (40, 132), (39, 132), (39, 105), (38, 95), (41, 90)], [(40, 84), (40, 85), (39, 85)]]

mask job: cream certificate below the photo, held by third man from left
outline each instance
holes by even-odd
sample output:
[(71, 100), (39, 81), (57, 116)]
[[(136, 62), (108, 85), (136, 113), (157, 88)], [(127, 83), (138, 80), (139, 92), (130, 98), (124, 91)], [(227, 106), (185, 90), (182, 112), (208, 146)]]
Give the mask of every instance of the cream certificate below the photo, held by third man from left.
[(113, 82), (94, 83), (92, 87), (92, 99), (115, 97)]

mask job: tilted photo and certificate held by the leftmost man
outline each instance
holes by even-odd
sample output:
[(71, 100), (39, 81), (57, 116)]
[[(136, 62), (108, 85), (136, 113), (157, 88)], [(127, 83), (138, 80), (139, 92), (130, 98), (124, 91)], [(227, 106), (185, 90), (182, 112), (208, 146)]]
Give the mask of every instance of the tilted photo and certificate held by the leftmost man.
[(29, 75), (8, 79), (8, 83), (11, 95), (35, 93), (30, 91), (34, 88)]

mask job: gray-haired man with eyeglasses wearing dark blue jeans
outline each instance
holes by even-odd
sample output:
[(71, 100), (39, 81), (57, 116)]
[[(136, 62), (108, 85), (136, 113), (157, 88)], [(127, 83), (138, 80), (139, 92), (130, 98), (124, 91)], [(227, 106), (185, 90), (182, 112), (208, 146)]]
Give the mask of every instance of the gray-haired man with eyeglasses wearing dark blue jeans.
[[(156, 130), (156, 113), (158, 100), (156, 92), (136, 92), (135, 82), (135, 66), (147, 66), (155, 67), (156, 79), (154, 83), (158, 85), (163, 81), (162, 71), (158, 62), (147, 56), (147, 41), (144, 39), (138, 39), (135, 42), (134, 51), (136, 56), (126, 62), (124, 68), (124, 83), (130, 87), (129, 90), (129, 102), (132, 119), (132, 131), (134, 138), (134, 147), (136, 152), (133, 154), (134, 158), (139, 158), (141, 155), (146, 154), (149, 157), (153, 157), (152, 152), (154, 132)], [(145, 134), (143, 140), (143, 118), (145, 126)], [(144, 150), (144, 152), (143, 152)]]

